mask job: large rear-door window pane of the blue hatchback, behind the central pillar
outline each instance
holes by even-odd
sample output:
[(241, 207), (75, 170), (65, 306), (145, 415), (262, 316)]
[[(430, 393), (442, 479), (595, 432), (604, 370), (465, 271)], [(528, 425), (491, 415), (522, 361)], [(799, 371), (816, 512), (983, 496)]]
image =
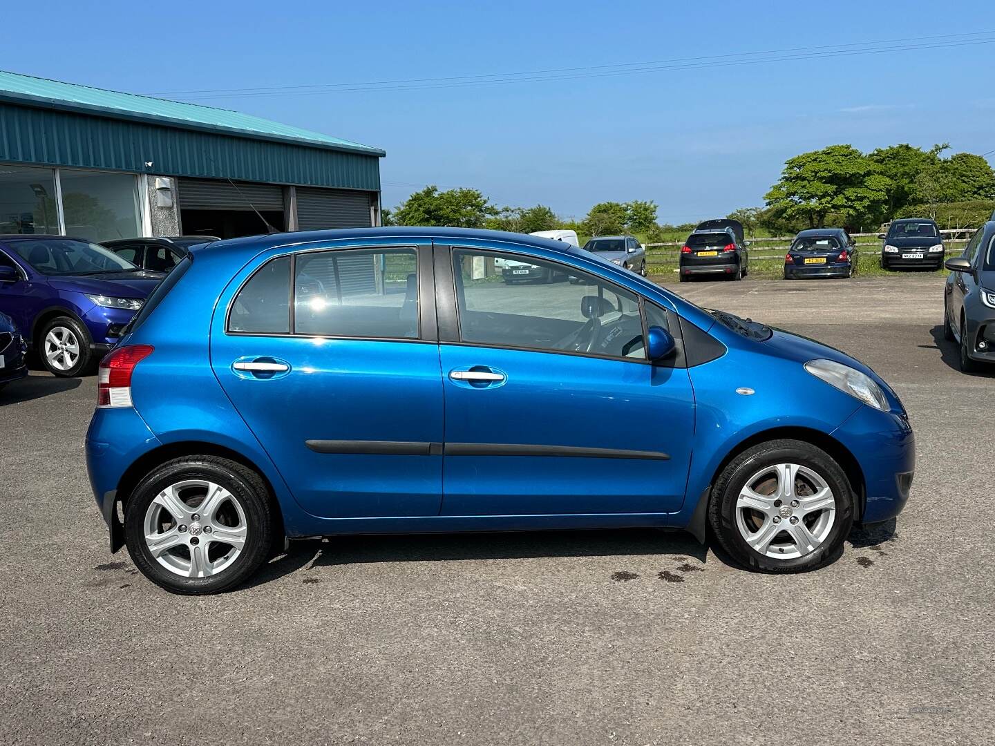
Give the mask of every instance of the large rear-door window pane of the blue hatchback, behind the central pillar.
[(296, 268), (296, 333), (418, 338), (418, 258), (414, 249), (298, 254)]

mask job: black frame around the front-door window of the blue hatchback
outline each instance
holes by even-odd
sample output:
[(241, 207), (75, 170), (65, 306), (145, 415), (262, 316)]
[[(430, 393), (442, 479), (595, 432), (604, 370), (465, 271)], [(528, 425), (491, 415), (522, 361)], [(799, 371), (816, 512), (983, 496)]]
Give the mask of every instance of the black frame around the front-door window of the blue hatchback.
[[(605, 278), (602, 278), (602, 277), (600, 277), (598, 275), (595, 275), (595, 274), (593, 274), (591, 272), (588, 272), (587, 270), (581, 270), (581, 269), (578, 269), (576, 267), (573, 267), (572, 265), (567, 265), (567, 264), (564, 264), (562, 262), (557, 262), (556, 260), (546, 259), (545, 257), (535, 257), (535, 256), (533, 256), (531, 254), (527, 254), (526, 252), (520, 252), (520, 251), (516, 252), (513, 249), (511, 249), (511, 250), (507, 250), (507, 249), (486, 249), (486, 248), (483, 248), (483, 247), (473, 247), (473, 246), (443, 246), (443, 247), (437, 246), (436, 249), (437, 250), (439, 250), (439, 249), (442, 250), (439, 253), (439, 255), (437, 255), (437, 259), (436, 259), (437, 267), (438, 267), (439, 264), (445, 265), (445, 267), (448, 269), (448, 274), (449, 274), (448, 278), (446, 278), (445, 275), (442, 274), (442, 277), (440, 277), (439, 281), (437, 281), (437, 283), (436, 283), (438, 287), (440, 287), (441, 289), (443, 289), (442, 297), (440, 298), (440, 307), (448, 306), (448, 308), (447, 308), (447, 310), (445, 312), (442, 311), (442, 310), (440, 310), (440, 313), (439, 313), (439, 325), (440, 325), (439, 343), (440, 344), (454, 344), (454, 345), (459, 345), (459, 346), (462, 346), (462, 347), (479, 347), (479, 348), (484, 348), (484, 349), (513, 350), (513, 351), (516, 351), (516, 352), (543, 352), (543, 353), (548, 353), (548, 354), (552, 354), (552, 355), (569, 355), (571, 357), (588, 357), (588, 358), (594, 358), (594, 359), (597, 359), (597, 360), (615, 360), (616, 362), (636, 363), (636, 364), (639, 364), (639, 365), (650, 365), (650, 366), (654, 365), (653, 361), (648, 360), (647, 357), (646, 357), (647, 352), (648, 352), (647, 351), (647, 346), (646, 346), (646, 331), (645, 331), (645, 329), (646, 329), (646, 316), (643, 313), (644, 295), (641, 292), (636, 292), (635, 290), (631, 290), (628, 287), (625, 287), (624, 285), (620, 285), (619, 283), (614, 282), (612, 280), (606, 280)], [(641, 358), (639, 358), (639, 357), (620, 357), (618, 355), (601, 355), (601, 354), (597, 354), (597, 353), (594, 353), (594, 352), (580, 352), (580, 351), (574, 351), (574, 350), (555, 350), (555, 349), (549, 349), (547, 347), (522, 347), (522, 346), (518, 346), (518, 345), (494, 344), (492, 342), (470, 342), (470, 341), (467, 341), (467, 340), (463, 339), (462, 323), (461, 323), (461, 320), (460, 320), (460, 293), (459, 293), (459, 288), (457, 287), (457, 284), (456, 284), (456, 252), (458, 252), (458, 251), (481, 253), (481, 254), (485, 254), (485, 255), (502, 255), (502, 254), (506, 255), (506, 254), (511, 254), (511, 255), (515, 255), (515, 256), (520, 256), (520, 257), (524, 257), (529, 262), (533, 262), (533, 263), (542, 263), (542, 262), (544, 262), (544, 263), (548, 263), (548, 264), (556, 265), (558, 267), (565, 268), (569, 273), (573, 273), (573, 274), (577, 274), (577, 275), (583, 275), (583, 276), (586, 276), (586, 277), (593, 278), (594, 280), (598, 280), (599, 282), (603, 282), (605, 284), (608, 284), (608, 285), (611, 285), (611, 286), (614, 286), (614, 287), (618, 287), (620, 290), (622, 290), (624, 292), (628, 292), (628, 293), (634, 295), (635, 298), (636, 298), (636, 303), (637, 303), (637, 305), (639, 307), (640, 324), (641, 324), (641, 326), (642, 326), (642, 328), (644, 330), (643, 331), (643, 357), (641, 357)], [(441, 260), (441, 262), (440, 262), (440, 260)], [(448, 285), (448, 287), (446, 287), (445, 285)], [(450, 293), (450, 292), (452, 294), (449, 297), (446, 297), (446, 295), (448, 293)], [(466, 299), (466, 296), (464, 296), (464, 298)], [(649, 301), (649, 302), (652, 302), (652, 301)], [(449, 318), (450, 311), (451, 311), (452, 316), (453, 316), (452, 319)], [(444, 316), (446, 316), (446, 317), (444, 318)], [(448, 327), (450, 323), (455, 324), (455, 328), (446, 328), (446, 330), (444, 332), (443, 328), (444, 327)], [(455, 339), (444, 338), (444, 337), (453, 336), (454, 334), (455, 334)]]

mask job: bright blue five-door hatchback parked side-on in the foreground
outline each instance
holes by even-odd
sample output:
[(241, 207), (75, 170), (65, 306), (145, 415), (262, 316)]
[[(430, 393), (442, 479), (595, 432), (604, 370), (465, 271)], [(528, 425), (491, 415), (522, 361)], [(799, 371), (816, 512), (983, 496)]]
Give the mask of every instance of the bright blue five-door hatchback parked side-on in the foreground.
[(914, 445), (835, 349), (560, 242), (374, 228), (193, 249), (101, 362), (87, 460), (111, 551), (195, 594), (350, 533), (678, 527), (808, 570), (901, 510)]

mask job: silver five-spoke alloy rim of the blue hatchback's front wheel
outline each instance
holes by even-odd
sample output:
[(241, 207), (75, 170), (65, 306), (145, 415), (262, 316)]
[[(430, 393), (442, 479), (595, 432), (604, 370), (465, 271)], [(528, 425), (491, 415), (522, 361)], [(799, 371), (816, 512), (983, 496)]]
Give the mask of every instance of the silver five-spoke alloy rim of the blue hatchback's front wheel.
[(794, 559), (826, 541), (836, 519), (836, 498), (826, 479), (799, 464), (765, 466), (736, 498), (739, 535), (765, 557)]

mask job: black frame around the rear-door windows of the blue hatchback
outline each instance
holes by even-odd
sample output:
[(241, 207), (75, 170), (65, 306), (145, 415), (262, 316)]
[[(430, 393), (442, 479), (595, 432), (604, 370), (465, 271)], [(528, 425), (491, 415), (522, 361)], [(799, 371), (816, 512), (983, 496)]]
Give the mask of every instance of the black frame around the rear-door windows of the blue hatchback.
[[(275, 247), (276, 248), (276, 247)], [(283, 248), (283, 247), (281, 247)], [(297, 258), (298, 255), (303, 254), (319, 254), (326, 252), (346, 252), (346, 251), (370, 251), (376, 252), (377, 250), (413, 250), (415, 253), (415, 263), (416, 263), (416, 274), (418, 279), (418, 336), (417, 337), (375, 337), (375, 336), (355, 336), (355, 335), (345, 335), (345, 334), (305, 334), (303, 332), (295, 331), (296, 322), (296, 303), (295, 294), (297, 291)], [(291, 251), (287, 254), (279, 254), (270, 257), (263, 264), (257, 267), (253, 272), (243, 280), (238, 289), (232, 293), (231, 298), (228, 300), (228, 307), (225, 310), (225, 336), (232, 337), (292, 337), (295, 339), (343, 339), (343, 340), (354, 340), (354, 341), (366, 341), (366, 342), (414, 342), (418, 344), (438, 344), (438, 335), (436, 333), (435, 325), (431, 323), (431, 319), (435, 316), (435, 303), (432, 303), (432, 308), (427, 309), (425, 307), (425, 295), (423, 291), (423, 283), (432, 282), (432, 255), (431, 246), (424, 246), (419, 244), (391, 244), (391, 245), (377, 245), (377, 246), (342, 246), (342, 247), (314, 247), (310, 249), (305, 249), (302, 251)], [(237, 331), (231, 328), (231, 316), (232, 309), (235, 307), (235, 301), (239, 294), (245, 288), (245, 286), (256, 277), (256, 274), (261, 272), (265, 267), (267, 267), (271, 262), (276, 262), (280, 259), (290, 258), (290, 309), (288, 311), (288, 321), (290, 331)], [(428, 287), (432, 285), (429, 284)], [(434, 294), (432, 299), (434, 300)], [(429, 321), (426, 322), (426, 316), (431, 313)], [(435, 338), (433, 338), (435, 337)]]

